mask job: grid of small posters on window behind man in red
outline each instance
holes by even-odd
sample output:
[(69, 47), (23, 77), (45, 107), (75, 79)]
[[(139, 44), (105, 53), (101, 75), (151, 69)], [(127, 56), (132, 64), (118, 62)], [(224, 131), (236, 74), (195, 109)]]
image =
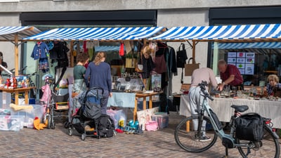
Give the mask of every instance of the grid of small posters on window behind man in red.
[(228, 52), (228, 64), (235, 65), (241, 74), (254, 74), (254, 53)]

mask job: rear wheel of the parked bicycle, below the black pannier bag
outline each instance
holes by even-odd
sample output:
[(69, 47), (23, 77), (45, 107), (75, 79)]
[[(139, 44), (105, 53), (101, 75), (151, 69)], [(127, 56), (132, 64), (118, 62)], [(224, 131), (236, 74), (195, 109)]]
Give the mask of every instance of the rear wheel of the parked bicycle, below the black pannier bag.
[(237, 143), (248, 144), (250, 153), (247, 155), (247, 147), (237, 147), (242, 157), (258, 158), (258, 157), (280, 157), (280, 147), (278, 139), (273, 135), (273, 131), (268, 126), (264, 126), (263, 140), (253, 143), (249, 140), (236, 139)]

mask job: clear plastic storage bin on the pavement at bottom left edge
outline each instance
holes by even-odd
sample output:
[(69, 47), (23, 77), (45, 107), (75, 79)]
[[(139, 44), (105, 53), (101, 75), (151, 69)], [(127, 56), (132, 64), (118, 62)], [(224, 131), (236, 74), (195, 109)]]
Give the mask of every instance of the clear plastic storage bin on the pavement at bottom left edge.
[(23, 128), (24, 116), (1, 115), (0, 131), (20, 131)]

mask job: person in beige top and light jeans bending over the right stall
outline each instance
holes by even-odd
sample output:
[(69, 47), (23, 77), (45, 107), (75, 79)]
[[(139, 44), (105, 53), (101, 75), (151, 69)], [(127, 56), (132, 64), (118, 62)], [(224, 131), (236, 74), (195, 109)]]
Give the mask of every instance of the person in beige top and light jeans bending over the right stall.
[[(201, 88), (200, 86), (198, 86), (198, 84), (200, 84), (202, 81), (207, 81), (207, 83), (211, 84), (211, 86), (213, 86), (214, 88), (218, 86), (216, 82), (215, 74), (213, 70), (211, 70), (210, 68), (202, 67), (192, 72), (191, 85), (188, 93), (188, 98), (190, 100), (190, 110), (192, 115), (198, 114), (197, 112), (195, 112), (195, 110), (197, 110), (197, 107), (199, 107), (199, 105), (202, 105), (203, 102), (203, 96), (200, 95)], [(208, 90), (208, 87), (206, 88)], [(193, 128), (197, 129), (198, 121), (192, 120), (192, 124), (193, 124)], [(200, 138), (200, 141), (211, 140), (211, 138), (206, 136), (205, 126), (206, 126), (206, 121), (203, 121), (202, 138)]]

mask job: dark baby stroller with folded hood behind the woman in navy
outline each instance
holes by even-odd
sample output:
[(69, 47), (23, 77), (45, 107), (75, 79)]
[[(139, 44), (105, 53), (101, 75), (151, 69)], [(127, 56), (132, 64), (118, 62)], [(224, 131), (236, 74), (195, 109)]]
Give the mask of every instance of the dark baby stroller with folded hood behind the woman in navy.
[[(94, 136), (98, 139), (103, 136), (98, 128), (98, 126), (100, 126), (100, 118), (107, 117), (107, 115), (101, 114), (100, 102), (102, 99), (103, 88), (93, 87), (81, 93), (79, 97), (81, 107), (79, 107), (77, 113), (72, 116), (72, 120), (70, 124), (68, 124), (69, 136), (72, 136), (72, 129), (75, 129), (81, 134), (81, 140), (85, 140), (86, 136)], [(114, 133), (114, 122), (109, 116), (106, 119), (110, 121), (113, 126), (107, 131), (112, 131), (112, 133)]]

